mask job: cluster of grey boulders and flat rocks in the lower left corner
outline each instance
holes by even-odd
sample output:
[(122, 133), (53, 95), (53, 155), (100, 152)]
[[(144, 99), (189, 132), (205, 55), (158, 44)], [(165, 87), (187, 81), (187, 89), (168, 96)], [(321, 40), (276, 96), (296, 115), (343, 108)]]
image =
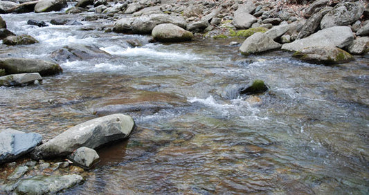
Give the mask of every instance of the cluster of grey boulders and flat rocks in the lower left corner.
[[(3, 129), (0, 130), (0, 164), (29, 155), (34, 160), (39, 160), (39, 169), (48, 172), (54, 172), (69, 165), (90, 169), (100, 159), (94, 149), (127, 138), (134, 127), (134, 120), (128, 115), (107, 115), (71, 127), (43, 144), (39, 133)], [(43, 160), (64, 157), (70, 161), (53, 163), (53, 166), (50, 163), (44, 163)], [(8, 193), (53, 194), (83, 180), (79, 175), (43, 176), (42, 170), (35, 173), (35, 165), (35, 161), (19, 165), (5, 181), (0, 180), (0, 189)]]

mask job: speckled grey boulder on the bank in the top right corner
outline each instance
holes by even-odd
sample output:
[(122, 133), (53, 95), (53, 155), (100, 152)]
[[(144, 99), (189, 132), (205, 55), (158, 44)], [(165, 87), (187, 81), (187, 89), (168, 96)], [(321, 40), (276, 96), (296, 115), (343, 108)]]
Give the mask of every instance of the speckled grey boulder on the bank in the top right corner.
[(361, 1), (343, 1), (334, 6), (333, 10), (323, 17), (321, 20), (321, 29), (352, 24), (363, 15), (364, 9), (365, 7)]

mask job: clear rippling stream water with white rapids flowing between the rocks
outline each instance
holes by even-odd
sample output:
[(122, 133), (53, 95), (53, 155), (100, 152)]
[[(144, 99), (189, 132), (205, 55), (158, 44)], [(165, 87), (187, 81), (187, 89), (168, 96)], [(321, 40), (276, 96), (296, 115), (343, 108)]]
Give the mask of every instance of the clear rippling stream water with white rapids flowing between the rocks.
[[(100, 163), (64, 194), (369, 193), (368, 55), (323, 66), (283, 51), (244, 57), (229, 40), (150, 44), (104, 32), (114, 21), (103, 15), (82, 21), (90, 15), (1, 15), (12, 32), (39, 40), (1, 45), (1, 57), (50, 60), (64, 46), (100, 51), (57, 59), (64, 73), (40, 85), (0, 87), (2, 128), (48, 140), (114, 111), (138, 126), (129, 140), (98, 149)], [(83, 26), (27, 25), (58, 18)], [(224, 96), (256, 79), (267, 93)]]

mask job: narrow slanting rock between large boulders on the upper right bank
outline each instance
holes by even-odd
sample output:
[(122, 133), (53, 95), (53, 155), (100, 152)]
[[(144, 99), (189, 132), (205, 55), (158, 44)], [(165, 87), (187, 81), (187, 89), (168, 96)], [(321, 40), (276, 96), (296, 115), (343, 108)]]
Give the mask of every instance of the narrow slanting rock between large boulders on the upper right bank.
[(300, 32), (298, 32), (296, 39), (303, 39), (309, 35), (312, 35), (316, 29), (321, 25), (321, 19), (327, 12), (332, 10), (331, 7), (326, 7), (321, 9), (320, 11), (316, 12), (312, 17), (309, 17), (305, 22), (303, 28), (301, 28)]

